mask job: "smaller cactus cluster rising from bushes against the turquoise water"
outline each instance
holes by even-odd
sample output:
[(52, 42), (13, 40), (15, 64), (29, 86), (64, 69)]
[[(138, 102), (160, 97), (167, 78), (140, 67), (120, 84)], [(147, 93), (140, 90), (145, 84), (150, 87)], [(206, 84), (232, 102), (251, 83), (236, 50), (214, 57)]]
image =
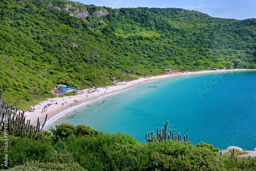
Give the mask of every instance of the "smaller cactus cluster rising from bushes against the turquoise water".
[[(172, 140), (172, 141), (176, 141), (176, 142), (182, 142), (182, 136), (180, 135), (180, 132), (177, 135), (174, 135), (174, 129), (173, 129), (173, 135), (172, 135), (172, 129), (170, 129), (170, 133), (168, 133), (168, 137), (166, 139), (167, 136), (167, 126), (168, 126), (168, 120), (166, 121), (166, 124), (164, 125), (164, 128), (162, 129), (162, 134), (161, 134), (161, 129), (157, 128), (157, 137), (155, 137), (154, 132), (151, 132), (151, 137), (150, 137), (150, 133), (148, 133), (148, 137), (147, 137), (147, 133), (146, 133), (146, 142), (163, 142), (166, 140)], [(171, 138), (172, 136), (172, 138)], [(187, 134), (184, 135), (184, 141), (183, 142), (187, 142)]]

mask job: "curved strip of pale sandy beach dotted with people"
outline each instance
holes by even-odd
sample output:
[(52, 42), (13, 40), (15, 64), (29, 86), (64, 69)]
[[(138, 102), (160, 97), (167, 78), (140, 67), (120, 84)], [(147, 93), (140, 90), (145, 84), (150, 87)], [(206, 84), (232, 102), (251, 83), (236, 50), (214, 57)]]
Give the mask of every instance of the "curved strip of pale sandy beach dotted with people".
[[(162, 75), (162, 76), (155, 76), (155, 77), (149, 77), (149, 78), (140, 78), (138, 80), (133, 80), (130, 82), (127, 82), (126, 85), (115, 85), (115, 86), (109, 86), (108, 88), (101, 88), (98, 92), (95, 91), (93, 93), (87, 93), (83, 92), (81, 95), (75, 95), (75, 96), (65, 96), (65, 97), (55, 97), (52, 99), (47, 99), (47, 101), (43, 101), (39, 103), (38, 105), (31, 106), (34, 107), (34, 112), (25, 112), (26, 119), (31, 120), (32, 125), (36, 125), (37, 118), (39, 117), (40, 125), (42, 125), (45, 121), (45, 116), (48, 114), (47, 122), (51, 120), (55, 115), (58, 113), (67, 110), (71, 107), (87, 103), (93, 103), (96, 100), (99, 100), (100, 97), (113, 94), (115, 92), (119, 92), (122, 90), (125, 90), (127, 88), (143, 84), (146, 82), (150, 82), (153, 80), (159, 80), (159, 79), (165, 79), (169, 77), (177, 77), (177, 76), (184, 76), (184, 75), (192, 75), (192, 74), (209, 74), (209, 73), (215, 73), (215, 72), (232, 72), (232, 71), (246, 71), (250, 69), (232, 69), (232, 70), (207, 70), (207, 71), (196, 71), (196, 72), (186, 72), (184, 74), (169, 74), (169, 75)], [(88, 95), (88, 97), (87, 97)], [(42, 109), (49, 104), (49, 102), (53, 101), (53, 105), (47, 108), (46, 112), (42, 112)], [(58, 101), (57, 104), (55, 104)], [(77, 101), (77, 102), (75, 102)], [(64, 105), (61, 105), (63, 104)]]

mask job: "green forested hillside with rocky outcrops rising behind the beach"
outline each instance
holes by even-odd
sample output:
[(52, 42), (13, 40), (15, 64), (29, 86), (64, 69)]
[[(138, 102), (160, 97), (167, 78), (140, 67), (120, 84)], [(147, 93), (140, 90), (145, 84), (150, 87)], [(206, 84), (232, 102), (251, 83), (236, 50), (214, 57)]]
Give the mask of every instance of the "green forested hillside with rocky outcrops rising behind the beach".
[(0, 89), (9, 104), (56, 84), (102, 86), (162, 69), (256, 67), (256, 19), (176, 8), (110, 9), (62, 0), (0, 1)]

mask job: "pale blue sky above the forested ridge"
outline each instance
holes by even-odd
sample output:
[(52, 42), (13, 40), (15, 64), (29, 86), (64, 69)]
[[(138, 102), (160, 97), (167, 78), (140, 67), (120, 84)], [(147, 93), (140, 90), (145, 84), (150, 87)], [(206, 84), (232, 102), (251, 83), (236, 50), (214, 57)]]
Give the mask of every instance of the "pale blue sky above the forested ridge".
[(84, 5), (110, 8), (182, 8), (206, 13), (211, 17), (256, 18), (256, 0), (75, 0)]

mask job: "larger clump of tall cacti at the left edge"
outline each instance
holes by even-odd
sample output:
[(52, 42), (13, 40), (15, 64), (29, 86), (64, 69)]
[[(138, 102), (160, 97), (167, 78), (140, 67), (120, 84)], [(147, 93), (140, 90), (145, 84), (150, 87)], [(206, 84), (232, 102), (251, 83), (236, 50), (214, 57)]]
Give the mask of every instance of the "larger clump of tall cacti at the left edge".
[[(39, 117), (37, 119), (37, 125), (30, 125), (30, 120), (27, 120), (24, 117), (24, 111), (17, 114), (17, 108), (12, 113), (13, 106), (9, 108), (9, 105), (6, 105), (6, 101), (2, 99), (3, 90), (1, 90), (0, 96), (0, 131), (4, 131), (4, 124), (8, 122), (8, 132), (10, 135), (23, 137), (24, 133), (29, 138), (34, 138), (38, 133), (42, 132), (46, 124), (47, 115), (45, 118), (44, 124), (40, 128)], [(2, 103), (3, 102), (3, 103)], [(5, 121), (5, 122), (4, 122)]]

